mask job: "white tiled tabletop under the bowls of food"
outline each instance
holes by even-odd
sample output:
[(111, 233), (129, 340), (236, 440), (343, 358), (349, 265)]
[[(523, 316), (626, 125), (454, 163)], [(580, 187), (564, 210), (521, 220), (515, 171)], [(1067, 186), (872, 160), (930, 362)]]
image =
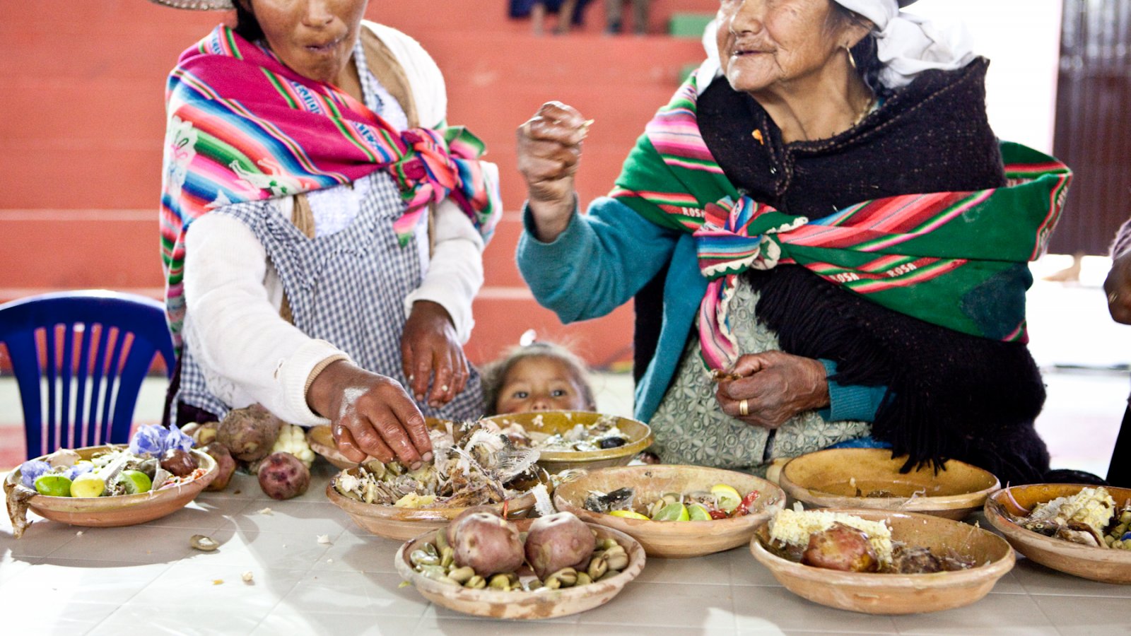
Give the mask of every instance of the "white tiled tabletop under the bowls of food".
[[(321, 462), (321, 461), (319, 461)], [(957, 610), (869, 616), (795, 596), (746, 548), (649, 559), (610, 603), (549, 621), (500, 621), (425, 601), (392, 565), (399, 543), (356, 526), (310, 490), (268, 499), (253, 478), (204, 492), (153, 523), (79, 528), (36, 521), (15, 540), (0, 522), (0, 634), (1131, 634), (1131, 586), (1059, 574), (1020, 557), (982, 601)], [(269, 514), (262, 513), (270, 508)], [(189, 548), (189, 536), (222, 542)], [(319, 543), (327, 535), (329, 544)], [(241, 574), (251, 571), (253, 584)], [(223, 583), (216, 584), (216, 581)], [(34, 617), (34, 621), (33, 621)]]

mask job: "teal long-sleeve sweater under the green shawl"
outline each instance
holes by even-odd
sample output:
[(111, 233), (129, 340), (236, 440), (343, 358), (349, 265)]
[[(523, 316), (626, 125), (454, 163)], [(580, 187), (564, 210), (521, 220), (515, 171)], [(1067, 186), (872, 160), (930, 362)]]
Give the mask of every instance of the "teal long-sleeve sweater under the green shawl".
[[(562, 323), (598, 318), (624, 304), (665, 263), (664, 309), (656, 354), (636, 387), (634, 415), (647, 422), (656, 412), (694, 328), (707, 278), (699, 272), (694, 239), (661, 227), (624, 204), (599, 198), (586, 215), (575, 214), (552, 242), (534, 237), (524, 208), (525, 231), (518, 242), (518, 269), (534, 298)], [(826, 376), (836, 363), (821, 360)], [(826, 420), (871, 422), (886, 387), (843, 386), (829, 380)]]

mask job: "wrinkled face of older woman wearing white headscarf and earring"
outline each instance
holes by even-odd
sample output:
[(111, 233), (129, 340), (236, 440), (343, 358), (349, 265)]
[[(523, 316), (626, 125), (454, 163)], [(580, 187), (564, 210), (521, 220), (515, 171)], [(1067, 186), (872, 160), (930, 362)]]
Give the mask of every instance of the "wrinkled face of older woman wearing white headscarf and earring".
[[(718, 57), (735, 91), (756, 93), (822, 69), (851, 37), (831, 0), (720, 0)], [(858, 27), (856, 27), (858, 29)]]

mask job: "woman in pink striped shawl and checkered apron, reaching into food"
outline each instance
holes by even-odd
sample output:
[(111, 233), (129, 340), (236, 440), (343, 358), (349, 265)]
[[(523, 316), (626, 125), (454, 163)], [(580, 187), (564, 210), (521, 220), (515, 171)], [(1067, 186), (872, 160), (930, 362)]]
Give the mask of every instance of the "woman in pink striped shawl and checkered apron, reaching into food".
[(499, 210), (440, 70), (366, 0), (157, 1), (236, 11), (166, 91), (174, 421), (259, 403), (355, 461), (430, 459), (424, 414), (483, 412), (463, 343)]

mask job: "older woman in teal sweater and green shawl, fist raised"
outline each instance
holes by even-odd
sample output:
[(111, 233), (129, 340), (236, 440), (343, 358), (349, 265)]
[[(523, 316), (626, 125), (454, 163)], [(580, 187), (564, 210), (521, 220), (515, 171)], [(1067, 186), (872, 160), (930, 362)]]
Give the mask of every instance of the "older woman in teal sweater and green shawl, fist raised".
[(645, 291), (636, 414), (665, 462), (847, 442), (1041, 479), (1026, 263), (1068, 170), (1000, 145), (986, 60), (896, 0), (722, 0), (716, 24), (586, 216), (585, 118), (549, 103), (519, 129), (535, 296), (570, 321)]

